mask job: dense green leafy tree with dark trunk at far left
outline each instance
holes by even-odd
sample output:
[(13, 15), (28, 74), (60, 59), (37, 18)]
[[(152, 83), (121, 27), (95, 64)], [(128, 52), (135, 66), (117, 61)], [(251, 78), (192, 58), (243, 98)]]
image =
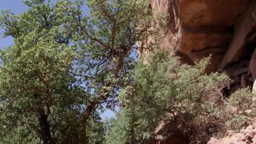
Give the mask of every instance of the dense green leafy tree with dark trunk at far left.
[[(1, 24), (14, 45), (2, 50), (0, 68), (3, 132), (24, 128), (46, 143), (54, 143), (53, 127), (77, 99), (75, 78), (69, 75), (74, 52), (64, 41), (53, 8), (43, 1), (25, 2), (27, 12), (3, 11)], [(85, 94), (84, 94), (85, 95)], [(83, 95), (78, 95), (82, 98)]]

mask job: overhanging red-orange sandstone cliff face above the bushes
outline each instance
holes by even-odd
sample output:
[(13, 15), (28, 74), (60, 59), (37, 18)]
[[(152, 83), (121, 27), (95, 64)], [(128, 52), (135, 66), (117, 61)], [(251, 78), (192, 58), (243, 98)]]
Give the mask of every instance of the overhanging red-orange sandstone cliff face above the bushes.
[(161, 45), (173, 49), (181, 56), (182, 63), (193, 64), (211, 54), (207, 70), (213, 72), (229, 68), (229, 64), (244, 57), (250, 60), (251, 54), (244, 56), (243, 50), (251, 49), (250, 44), (255, 40), (255, 2), (152, 0), (151, 7), (155, 13), (169, 14)]

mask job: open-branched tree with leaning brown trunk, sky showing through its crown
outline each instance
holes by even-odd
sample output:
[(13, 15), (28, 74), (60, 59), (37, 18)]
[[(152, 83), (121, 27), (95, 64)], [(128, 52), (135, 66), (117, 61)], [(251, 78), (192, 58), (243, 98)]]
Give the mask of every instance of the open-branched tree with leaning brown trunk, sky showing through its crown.
[(74, 15), (72, 25), (77, 29), (73, 39), (78, 67), (72, 69), (72, 74), (88, 83), (87, 88), (95, 94), (87, 104), (84, 121), (98, 104), (107, 102), (111, 107), (120, 89), (131, 83), (128, 78), (135, 62), (132, 53), (144, 48), (136, 46), (136, 42), (158, 35), (159, 23), (154, 21), (148, 3), (149, 0), (89, 0), (91, 11), (87, 17), (82, 17), (82, 4), (76, 5), (76, 11), (67, 10)]

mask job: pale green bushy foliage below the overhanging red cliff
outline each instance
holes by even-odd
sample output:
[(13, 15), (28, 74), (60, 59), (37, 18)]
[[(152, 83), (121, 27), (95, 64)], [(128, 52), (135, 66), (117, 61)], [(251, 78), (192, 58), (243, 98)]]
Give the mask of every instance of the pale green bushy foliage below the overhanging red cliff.
[(206, 143), (212, 136), (220, 138), (227, 130), (246, 126), (255, 117), (255, 94), (243, 88), (224, 99), (221, 90), (229, 87), (229, 77), (206, 74), (209, 60), (189, 66), (165, 53), (142, 58), (132, 76), (134, 83), (118, 97), (125, 108), (112, 120), (108, 139), (150, 143), (157, 135), (168, 139), (180, 134), (183, 141)]

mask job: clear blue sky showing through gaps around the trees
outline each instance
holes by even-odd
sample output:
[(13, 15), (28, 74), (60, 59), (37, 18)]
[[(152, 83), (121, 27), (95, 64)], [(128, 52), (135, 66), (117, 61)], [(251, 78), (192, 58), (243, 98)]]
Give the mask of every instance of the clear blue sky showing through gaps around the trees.
[[(23, 0), (0, 0), (0, 10), (5, 10), (5, 9), (11, 9), (11, 11), (14, 14), (19, 14), (22, 13), (23, 11), (27, 11), (28, 7), (24, 5)], [(51, 0), (51, 3), (55, 3), (57, 0)], [(72, 0), (74, 1), (74, 0)], [(85, 0), (86, 3), (86, 0)], [(86, 5), (83, 6), (83, 11), (85, 11), (85, 14), (88, 13), (88, 7)], [(7, 37), (7, 38), (2, 38), (4, 29), (0, 29), (0, 48), (7, 47), (9, 45), (13, 44), (13, 38), (12, 37)], [(114, 117), (115, 113), (112, 112), (111, 110), (106, 110), (101, 117)]]

